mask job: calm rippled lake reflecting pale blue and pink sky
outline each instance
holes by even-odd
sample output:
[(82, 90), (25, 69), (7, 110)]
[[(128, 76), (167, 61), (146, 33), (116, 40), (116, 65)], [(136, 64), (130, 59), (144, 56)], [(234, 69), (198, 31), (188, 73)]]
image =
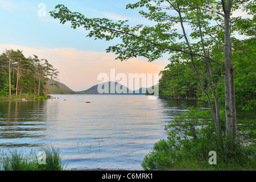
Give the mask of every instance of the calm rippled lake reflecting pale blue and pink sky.
[[(172, 118), (188, 106), (208, 108), (207, 102), (143, 95), (52, 96), (56, 99), (0, 101), (0, 150), (53, 146), (68, 159), (68, 169), (142, 169), (154, 143), (167, 137), (164, 126)], [(245, 114), (238, 110), (238, 117)]]

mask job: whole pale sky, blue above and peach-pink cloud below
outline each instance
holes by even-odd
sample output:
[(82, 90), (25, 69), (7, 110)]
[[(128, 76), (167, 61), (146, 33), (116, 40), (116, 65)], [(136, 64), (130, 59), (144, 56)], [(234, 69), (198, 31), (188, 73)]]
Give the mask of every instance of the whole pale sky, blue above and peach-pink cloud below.
[[(26, 57), (36, 55), (39, 59), (47, 59), (60, 72), (59, 81), (74, 91), (100, 83), (98, 75), (110, 76), (110, 69), (115, 70), (115, 75), (124, 73), (127, 77), (129, 73), (158, 74), (168, 64), (166, 59), (151, 63), (143, 57), (122, 62), (115, 60), (116, 55), (106, 53), (106, 48), (114, 46), (118, 40), (106, 42), (86, 38), (84, 29), (73, 30), (69, 24), (60, 24), (48, 13), (56, 5), (63, 4), (88, 18), (127, 19), (134, 25), (147, 23), (138, 10), (126, 10), (126, 5), (133, 2), (136, 1), (0, 0), (0, 52), (19, 49)], [(44, 8), (45, 15), (42, 14)]]

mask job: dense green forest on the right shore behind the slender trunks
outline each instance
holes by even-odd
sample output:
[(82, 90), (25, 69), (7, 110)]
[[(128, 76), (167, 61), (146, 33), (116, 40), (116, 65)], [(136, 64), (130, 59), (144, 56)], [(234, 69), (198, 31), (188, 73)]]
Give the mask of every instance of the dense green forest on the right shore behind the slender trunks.
[[(256, 94), (256, 67), (255, 67), (255, 36), (246, 40), (235, 40), (233, 44), (233, 63), (234, 63), (234, 82), (236, 90), (236, 104), (242, 109), (251, 109), (255, 105)], [(219, 61), (224, 63), (223, 52), (218, 50), (214, 55), (219, 57)], [(222, 57), (221, 57), (222, 56)], [(201, 98), (207, 100), (197, 81), (196, 72), (191, 63), (184, 60), (171, 60), (171, 63), (160, 72), (162, 76), (159, 80), (159, 97), (162, 98)], [(225, 103), (225, 85), (224, 72), (216, 65), (210, 65), (212, 76), (207, 76), (207, 67), (204, 64), (198, 64), (200, 79), (205, 89), (212, 93), (209, 88), (209, 80), (214, 82), (213, 87), (218, 92), (218, 98), (221, 103)]]

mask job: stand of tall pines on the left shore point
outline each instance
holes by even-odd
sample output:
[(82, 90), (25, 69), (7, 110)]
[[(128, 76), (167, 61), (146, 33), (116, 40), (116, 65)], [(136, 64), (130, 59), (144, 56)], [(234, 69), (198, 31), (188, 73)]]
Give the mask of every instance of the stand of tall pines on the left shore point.
[(47, 97), (52, 80), (58, 75), (59, 71), (48, 60), (36, 55), (26, 57), (19, 49), (6, 49), (0, 55), (0, 96), (10, 99), (22, 94)]

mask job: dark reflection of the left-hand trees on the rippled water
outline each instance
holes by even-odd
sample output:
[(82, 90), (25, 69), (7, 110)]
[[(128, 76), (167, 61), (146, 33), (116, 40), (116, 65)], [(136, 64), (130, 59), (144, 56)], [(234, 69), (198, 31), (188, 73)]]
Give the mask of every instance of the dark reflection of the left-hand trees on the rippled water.
[(46, 136), (46, 118), (46, 101), (1, 101), (0, 147), (40, 146), (27, 143), (27, 138)]

